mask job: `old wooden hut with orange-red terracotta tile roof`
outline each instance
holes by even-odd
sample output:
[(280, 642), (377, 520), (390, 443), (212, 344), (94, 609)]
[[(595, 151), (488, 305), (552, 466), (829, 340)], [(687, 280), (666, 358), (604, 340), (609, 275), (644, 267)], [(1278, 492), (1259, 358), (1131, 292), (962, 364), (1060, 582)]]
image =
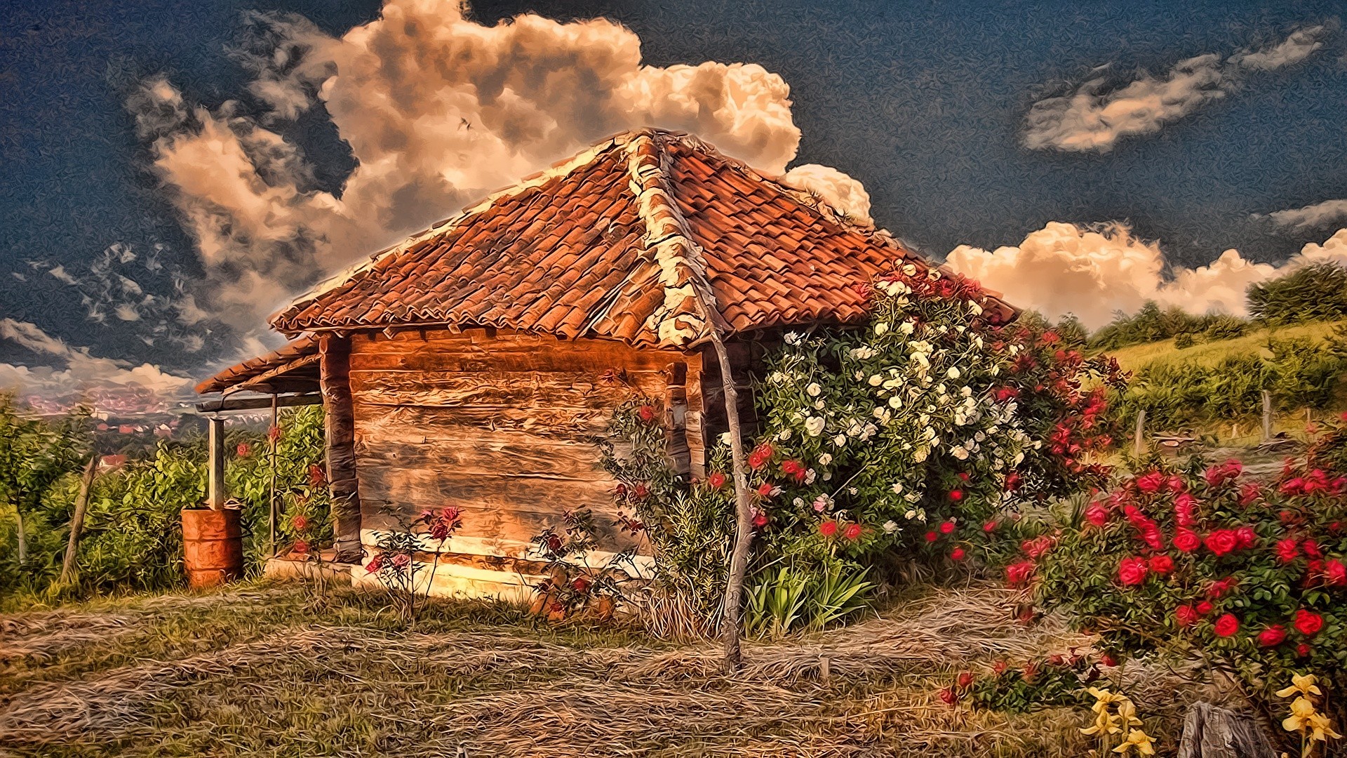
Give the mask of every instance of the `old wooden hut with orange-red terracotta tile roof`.
[(614, 406), (660, 398), (671, 460), (702, 476), (726, 418), (713, 330), (750, 419), (762, 351), (863, 318), (865, 285), (907, 262), (927, 266), (696, 138), (633, 131), (319, 285), (271, 320), (292, 343), (198, 391), (321, 390), (341, 560), (397, 514), (453, 504), (434, 591), (516, 595), (564, 510), (616, 519), (594, 444)]

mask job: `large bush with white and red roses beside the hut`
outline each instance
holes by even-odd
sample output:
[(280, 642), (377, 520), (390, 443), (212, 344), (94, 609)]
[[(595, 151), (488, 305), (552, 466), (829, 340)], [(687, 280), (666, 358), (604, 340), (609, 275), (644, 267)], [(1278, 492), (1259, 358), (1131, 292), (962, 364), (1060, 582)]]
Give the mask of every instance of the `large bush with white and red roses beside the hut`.
[(977, 285), (935, 270), (870, 291), (866, 329), (787, 334), (760, 388), (749, 467), (769, 554), (985, 562), (1021, 504), (1103, 482), (1086, 455), (1111, 444), (1115, 363), (997, 324)]

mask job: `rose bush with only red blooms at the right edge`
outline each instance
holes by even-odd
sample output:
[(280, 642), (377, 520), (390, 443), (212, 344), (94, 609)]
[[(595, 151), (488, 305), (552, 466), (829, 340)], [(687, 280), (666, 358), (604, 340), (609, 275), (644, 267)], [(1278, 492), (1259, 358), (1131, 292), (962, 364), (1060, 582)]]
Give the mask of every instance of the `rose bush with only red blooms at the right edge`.
[(1344, 522), (1347, 476), (1288, 460), (1261, 484), (1193, 459), (1083, 503), (1008, 576), (1118, 655), (1196, 654), (1266, 704), (1297, 670), (1347, 687)]

